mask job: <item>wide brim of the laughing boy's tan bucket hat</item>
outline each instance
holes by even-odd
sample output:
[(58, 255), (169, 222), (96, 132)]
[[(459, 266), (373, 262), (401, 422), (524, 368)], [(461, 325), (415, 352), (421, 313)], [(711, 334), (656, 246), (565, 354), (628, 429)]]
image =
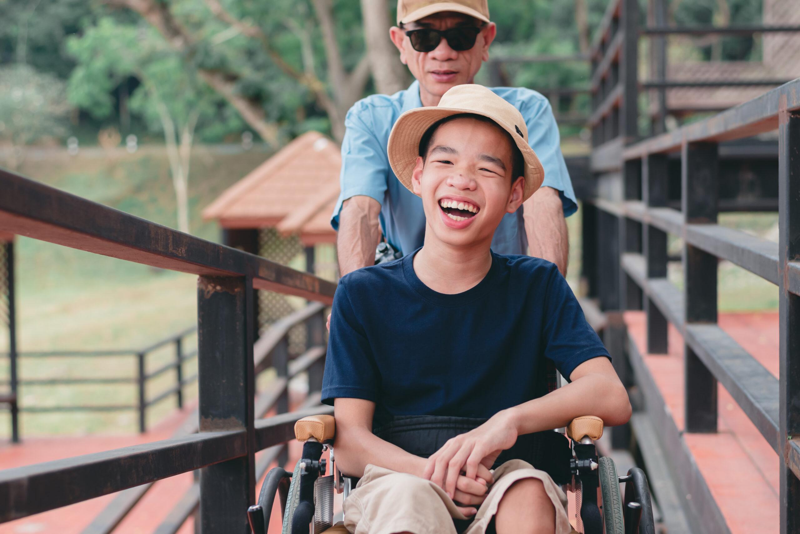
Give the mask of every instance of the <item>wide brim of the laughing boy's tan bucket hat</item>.
[[(400, 115), (397, 122), (394, 123), (386, 150), (389, 156), (389, 164), (392, 167), (392, 171), (394, 171), (394, 175), (396, 175), (400, 182), (413, 193), (414, 189), (411, 186), (411, 175), (414, 172), (414, 167), (417, 165), (419, 141), (422, 139), (422, 135), (425, 134), (430, 126), (433, 126), (435, 122), (442, 118), (466, 113), (483, 115), (484, 117), (492, 119), (498, 126), (509, 133), (511, 139), (514, 139), (514, 143), (517, 144), (517, 148), (522, 152), (522, 159), (525, 162), (525, 187), (522, 193), (522, 202), (530, 199), (530, 195), (533, 195), (536, 190), (542, 186), (542, 182), (545, 178), (544, 167), (542, 167), (542, 163), (539, 161), (536, 152), (534, 152), (534, 149), (522, 138), (522, 135), (517, 133), (513, 125), (507, 125), (490, 114), (481, 113), (476, 110), (430, 106), (418, 107)], [(517, 176), (514, 176), (514, 179), (517, 178)]]

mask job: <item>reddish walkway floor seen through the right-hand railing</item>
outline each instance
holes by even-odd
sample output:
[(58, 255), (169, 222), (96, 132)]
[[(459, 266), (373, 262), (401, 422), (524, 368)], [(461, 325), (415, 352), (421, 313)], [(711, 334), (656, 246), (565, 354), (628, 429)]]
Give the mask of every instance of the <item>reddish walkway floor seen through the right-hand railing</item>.
[[(645, 315), (625, 315), (630, 337), (678, 430), (683, 424), (683, 341), (670, 325), (669, 354), (646, 354)], [(720, 314), (719, 325), (778, 376), (778, 313)], [(699, 472), (730, 532), (779, 532), (778, 456), (722, 385), (718, 385), (719, 432), (683, 434)]]

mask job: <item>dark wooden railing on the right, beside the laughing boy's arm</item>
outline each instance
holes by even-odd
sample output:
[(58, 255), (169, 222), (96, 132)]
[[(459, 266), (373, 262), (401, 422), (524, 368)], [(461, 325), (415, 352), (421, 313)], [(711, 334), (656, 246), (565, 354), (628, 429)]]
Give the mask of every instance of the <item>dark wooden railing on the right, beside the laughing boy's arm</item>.
[[(779, 243), (717, 223), (719, 143), (778, 130)], [(667, 206), (670, 154), (680, 159), (681, 209)], [(622, 149), (622, 161), (591, 203), (601, 251), (584, 269), (595, 280), (605, 310), (644, 309), (649, 353), (666, 353), (667, 324), (685, 343), (683, 419), (679, 430), (646, 370), (636, 343), (626, 351), (632, 381), (642, 391), (667, 461), (677, 474), (685, 509), (698, 532), (728, 532), (722, 512), (681, 432), (717, 432), (717, 384), (778, 453), (781, 532), (800, 529), (800, 78), (702, 122)], [(610, 172), (611, 172), (610, 171)], [(602, 180), (602, 175), (601, 178)], [(614, 187), (610, 187), (614, 189)], [(586, 215), (586, 213), (584, 214)], [(666, 278), (667, 235), (683, 240), (684, 287)], [(590, 234), (585, 239), (592, 239)], [(725, 259), (779, 288), (780, 375), (775, 378), (717, 324), (718, 261)], [(602, 299), (603, 286), (610, 286)], [(634, 429), (635, 431), (635, 429)], [(734, 468), (734, 466), (731, 466)]]

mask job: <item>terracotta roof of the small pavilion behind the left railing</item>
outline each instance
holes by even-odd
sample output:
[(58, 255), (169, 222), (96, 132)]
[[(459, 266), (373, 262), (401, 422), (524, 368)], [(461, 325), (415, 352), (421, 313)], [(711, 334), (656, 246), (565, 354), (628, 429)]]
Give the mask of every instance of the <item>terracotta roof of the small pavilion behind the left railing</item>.
[(309, 199), (317, 199), (319, 191), (335, 187), (338, 195), (341, 167), (338, 145), (318, 132), (307, 132), (228, 187), (203, 210), (203, 219), (218, 219), (225, 228), (277, 226), (287, 215), (307, 210)]

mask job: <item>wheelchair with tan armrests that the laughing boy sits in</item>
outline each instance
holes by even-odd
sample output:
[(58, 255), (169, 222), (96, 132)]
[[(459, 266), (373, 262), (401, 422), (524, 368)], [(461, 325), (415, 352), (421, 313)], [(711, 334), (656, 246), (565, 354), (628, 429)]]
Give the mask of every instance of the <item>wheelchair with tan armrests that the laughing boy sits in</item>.
[[(653, 508), (645, 473), (640, 468), (631, 468), (626, 476), (618, 476), (614, 460), (608, 456), (598, 457), (594, 441), (602, 436), (602, 431), (602, 420), (594, 416), (578, 417), (566, 428), (570, 452), (564, 459), (568, 465), (560, 467), (571, 477), (571, 481), (563, 485), (565, 491), (575, 492), (577, 532), (654, 534)], [(302, 459), (298, 460), (294, 472), (278, 467), (267, 473), (258, 504), (247, 510), (254, 534), (268, 534), (276, 494), (283, 513), (282, 534), (346, 534), (342, 524), (334, 525), (334, 494), (343, 493), (346, 499), (357, 480), (342, 476), (336, 468), (335, 432), (333, 416), (298, 420), (294, 434), (303, 444)], [(548, 432), (562, 436), (555, 431)], [(326, 474), (328, 462), (322, 458), (325, 451), (330, 451), (330, 475)], [(625, 483), (624, 495), (620, 492), (620, 483)]]

